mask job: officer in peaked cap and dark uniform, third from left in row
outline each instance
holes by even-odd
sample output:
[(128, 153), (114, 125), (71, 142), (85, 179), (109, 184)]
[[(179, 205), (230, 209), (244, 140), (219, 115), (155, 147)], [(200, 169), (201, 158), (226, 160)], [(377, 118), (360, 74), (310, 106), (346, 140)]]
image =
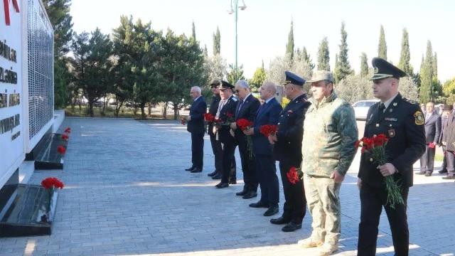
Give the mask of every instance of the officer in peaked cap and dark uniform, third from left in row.
[[(230, 134), (230, 124), (227, 124), (228, 122), (233, 122), (235, 120), (235, 109), (237, 108), (238, 103), (237, 98), (232, 95), (233, 88), (234, 85), (231, 85), (229, 82), (221, 81), (219, 118), (222, 119), (225, 124), (216, 125), (215, 130), (218, 133), (218, 140), (223, 149), (223, 177), (221, 178), (220, 183), (215, 186), (216, 188), (227, 188), (230, 183), (230, 176), (235, 176), (231, 171), (232, 159), (234, 158), (235, 151), (235, 139)], [(230, 114), (232, 114), (232, 117), (229, 117)]]

